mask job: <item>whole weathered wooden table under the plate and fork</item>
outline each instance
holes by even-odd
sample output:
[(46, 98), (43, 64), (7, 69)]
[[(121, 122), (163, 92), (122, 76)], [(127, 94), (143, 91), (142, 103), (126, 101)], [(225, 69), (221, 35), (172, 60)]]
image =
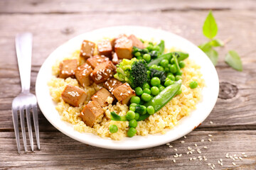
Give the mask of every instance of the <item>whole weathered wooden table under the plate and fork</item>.
[[(14, 48), (16, 33), (29, 31), (34, 36), (34, 93), (43, 61), (75, 35), (107, 26), (149, 26), (176, 33), (199, 45), (206, 42), (202, 26), (210, 8), (219, 27), (217, 38), (231, 41), (218, 50), (220, 94), (215, 108), (186, 139), (171, 142), (173, 147), (101, 149), (63, 135), (39, 112), (41, 150), (17, 153), (11, 118), (11, 101), (21, 91)], [(0, 169), (210, 169), (209, 163), (215, 164), (215, 169), (256, 169), (255, 10), (253, 0), (0, 1)], [(236, 50), (242, 57), (243, 72), (225, 64), (228, 50)], [(186, 154), (188, 147), (195, 149), (193, 154)], [(174, 158), (176, 153), (182, 156)], [(238, 159), (226, 158), (227, 153), (238, 155)], [(223, 166), (218, 164), (220, 159)]]

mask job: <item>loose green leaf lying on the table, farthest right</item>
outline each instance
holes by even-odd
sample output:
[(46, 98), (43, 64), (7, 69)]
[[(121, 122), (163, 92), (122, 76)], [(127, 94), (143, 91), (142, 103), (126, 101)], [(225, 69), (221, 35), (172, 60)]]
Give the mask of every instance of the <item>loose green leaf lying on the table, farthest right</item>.
[(242, 61), (237, 52), (230, 50), (225, 56), (225, 62), (233, 69), (242, 72)]

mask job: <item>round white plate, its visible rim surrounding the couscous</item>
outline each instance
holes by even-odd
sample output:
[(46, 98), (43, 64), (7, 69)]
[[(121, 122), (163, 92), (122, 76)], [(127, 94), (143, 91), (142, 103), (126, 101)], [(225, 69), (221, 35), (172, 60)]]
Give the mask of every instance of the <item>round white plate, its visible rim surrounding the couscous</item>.
[[(154, 38), (156, 42), (165, 40), (167, 48), (177, 47), (178, 49), (188, 52), (189, 58), (195, 60), (196, 64), (201, 66), (203, 79), (205, 79), (206, 82), (206, 87), (204, 87), (202, 91), (203, 100), (197, 104), (196, 111), (191, 112), (191, 115), (188, 117), (182, 118), (175, 128), (169, 130), (164, 135), (156, 134), (144, 137), (125, 137), (121, 141), (114, 141), (108, 138), (101, 138), (91, 133), (80, 133), (75, 131), (73, 129), (73, 125), (60, 120), (60, 115), (58, 114), (58, 111), (55, 110), (56, 103), (54, 103), (50, 97), (47, 82), (52, 76), (51, 67), (56, 60), (61, 60), (63, 57), (70, 56), (74, 50), (80, 49), (82, 40), (86, 39), (96, 41), (103, 37), (114, 38), (120, 33), (126, 33), (127, 35), (134, 34), (144, 40), (151, 40), (151, 38)], [(218, 98), (218, 91), (219, 81), (215, 67), (196, 45), (193, 45), (193, 43), (173, 33), (139, 26), (102, 28), (78, 35), (68, 42), (65, 42), (65, 44), (60, 45), (60, 47), (50, 54), (43, 63), (36, 79), (36, 96), (38, 98), (38, 105), (41, 108), (43, 115), (45, 115), (48, 121), (55, 126), (55, 128), (75, 140), (95, 147), (107, 149), (143, 149), (163, 145), (167, 142), (183, 137), (183, 135), (191, 132), (207, 118)]]

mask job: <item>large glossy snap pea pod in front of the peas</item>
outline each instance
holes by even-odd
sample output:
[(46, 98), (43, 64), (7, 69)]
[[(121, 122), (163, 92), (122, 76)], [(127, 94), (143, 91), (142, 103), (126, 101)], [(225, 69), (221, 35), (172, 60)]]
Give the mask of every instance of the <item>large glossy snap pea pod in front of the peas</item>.
[[(154, 96), (154, 98), (151, 98), (150, 101), (144, 104), (144, 106), (153, 106), (155, 113), (159, 111), (162, 107), (166, 105), (169, 101), (171, 101), (171, 98), (176, 96), (178, 90), (181, 88), (181, 80), (176, 81), (174, 84), (171, 84), (170, 86), (167, 86), (163, 91), (161, 91), (158, 95)], [(146, 118), (149, 118), (149, 113), (146, 113), (145, 115), (139, 116), (140, 120), (145, 120)]]

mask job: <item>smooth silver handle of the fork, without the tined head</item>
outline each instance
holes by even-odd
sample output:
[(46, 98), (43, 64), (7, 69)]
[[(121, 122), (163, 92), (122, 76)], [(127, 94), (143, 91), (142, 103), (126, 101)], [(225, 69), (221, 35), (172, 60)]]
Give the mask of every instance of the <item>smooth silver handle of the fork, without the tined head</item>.
[(32, 34), (21, 33), (16, 35), (15, 44), (18, 70), (21, 77), (21, 92), (28, 93), (31, 84)]

